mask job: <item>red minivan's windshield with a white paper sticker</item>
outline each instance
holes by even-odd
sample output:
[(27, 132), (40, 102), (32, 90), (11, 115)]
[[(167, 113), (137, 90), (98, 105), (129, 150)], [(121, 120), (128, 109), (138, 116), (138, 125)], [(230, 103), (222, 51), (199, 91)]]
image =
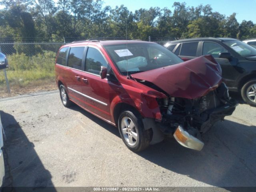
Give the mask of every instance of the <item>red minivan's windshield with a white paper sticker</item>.
[(122, 75), (144, 72), (183, 62), (159, 44), (133, 43), (104, 46)]

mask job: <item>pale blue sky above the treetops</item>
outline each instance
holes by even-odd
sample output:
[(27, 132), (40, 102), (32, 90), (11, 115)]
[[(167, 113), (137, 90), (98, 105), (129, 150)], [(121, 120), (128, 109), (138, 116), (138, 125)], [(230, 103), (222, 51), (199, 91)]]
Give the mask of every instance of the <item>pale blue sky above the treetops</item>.
[(256, 0), (104, 0), (103, 6), (120, 6), (124, 4), (128, 10), (134, 12), (140, 8), (150, 7), (167, 7), (173, 10), (172, 5), (174, 2), (186, 2), (186, 6), (198, 6), (200, 4), (210, 4), (212, 11), (217, 11), (220, 14), (230, 16), (232, 13), (236, 13), (236, 19), (239, 23), (242, 20), (251, 20), (256, 23)]

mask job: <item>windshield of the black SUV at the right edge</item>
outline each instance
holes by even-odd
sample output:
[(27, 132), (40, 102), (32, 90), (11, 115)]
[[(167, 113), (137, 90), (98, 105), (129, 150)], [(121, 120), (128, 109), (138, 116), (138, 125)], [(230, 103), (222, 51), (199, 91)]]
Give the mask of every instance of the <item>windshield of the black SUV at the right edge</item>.
[(242, 41), (224, 41), (223, 43), (232, 48), (238, 54), (240, 54), (240, 56), (256, 56), (256, 49)]

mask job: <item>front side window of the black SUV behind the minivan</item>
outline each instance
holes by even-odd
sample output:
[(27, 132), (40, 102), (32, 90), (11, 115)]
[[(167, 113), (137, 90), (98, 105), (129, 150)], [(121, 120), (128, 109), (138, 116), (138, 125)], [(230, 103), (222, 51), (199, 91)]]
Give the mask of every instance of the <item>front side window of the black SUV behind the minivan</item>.
[(212, 55), (214, 58), (219, 57), (219, 53), (226, 53), (224, 47), (220, 46), (219, 44), (212, 43), (212, 42), (204, 42), (203, 44), (203, 55)]

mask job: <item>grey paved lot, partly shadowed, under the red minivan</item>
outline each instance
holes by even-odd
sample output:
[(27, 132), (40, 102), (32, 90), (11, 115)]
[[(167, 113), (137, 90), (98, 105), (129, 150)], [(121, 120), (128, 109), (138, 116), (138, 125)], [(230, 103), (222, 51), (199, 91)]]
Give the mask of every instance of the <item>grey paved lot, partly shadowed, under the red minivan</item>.
[(168, 138), (133, 153), (118, 129), (57, 91), (0, 99), (14, 186), (256, 186), (256, 108), (239, 104), (201, 152)]

